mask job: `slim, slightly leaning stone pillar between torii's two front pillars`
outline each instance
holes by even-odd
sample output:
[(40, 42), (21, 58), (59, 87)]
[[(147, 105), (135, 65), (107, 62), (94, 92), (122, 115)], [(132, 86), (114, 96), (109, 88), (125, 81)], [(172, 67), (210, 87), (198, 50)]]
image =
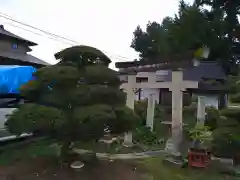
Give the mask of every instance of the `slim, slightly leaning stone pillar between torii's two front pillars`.
[(155, 110), (155, 96), (154, 94), (150, 94), (148, 97), (146, 126), (150, 127), (151, 131), (153, 131), (154, 126), (154, 110)]

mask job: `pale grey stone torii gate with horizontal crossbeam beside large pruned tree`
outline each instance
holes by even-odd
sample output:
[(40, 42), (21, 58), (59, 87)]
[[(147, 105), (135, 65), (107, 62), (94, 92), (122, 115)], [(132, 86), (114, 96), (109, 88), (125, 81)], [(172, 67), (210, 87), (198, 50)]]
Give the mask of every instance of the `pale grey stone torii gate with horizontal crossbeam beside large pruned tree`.
[[(126, 105), (134, 109), (135, 93), (133, 89), (135, 88), (168, 88), (172, 91), (172, 140), (175, 152), (179, 151), (179, 144), (182, 140), (182, 108), (183, 108), (183, 92), (186, 89), (198, 88), (197, 81), (186, 81), (183, 80), (182, 71), (172, 71), (172, 81), (171, 82), (156, 82), (156, 72), (148, 73), (148, 82), (136, 82), (136, 74), (128, 75), (128, 82), (123, 84), (121, 88), (125, 89), (127, 93), (127, 102)], [(155, 100), (151, 100), (153, 104), (151, 107), (154, 108)], [(150, 102), (149, 102), (150, 103)], [(148, 103), (148, 105), (149, 105)], [(154, 110), (149, 110), (147, 115), (147, 126), (153, 129), (153, 114)], [(130, 132), (125, 135), (125, 143), (131, 144), (132, 135)]]

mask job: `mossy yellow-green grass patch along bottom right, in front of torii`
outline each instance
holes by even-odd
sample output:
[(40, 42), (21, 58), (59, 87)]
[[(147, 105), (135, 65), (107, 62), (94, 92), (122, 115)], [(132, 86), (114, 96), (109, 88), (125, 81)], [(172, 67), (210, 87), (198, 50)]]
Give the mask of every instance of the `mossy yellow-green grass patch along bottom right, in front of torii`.
[(162, 164), (162, 158), (148, 158), (140, 161), (147, 170), (147, 180), (237, 180), (206, 169), (173, 168)]

